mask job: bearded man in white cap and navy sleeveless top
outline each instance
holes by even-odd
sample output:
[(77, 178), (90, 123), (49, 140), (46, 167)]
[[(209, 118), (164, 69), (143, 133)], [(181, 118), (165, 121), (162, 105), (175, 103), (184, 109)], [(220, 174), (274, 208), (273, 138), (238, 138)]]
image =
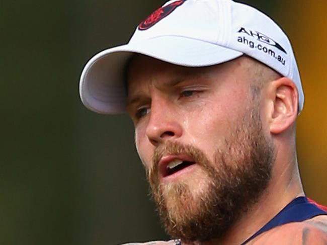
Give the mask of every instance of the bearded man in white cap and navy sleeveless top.
[(258, 10), (170, 1), (87, 63), (80, 96), (95, 112), (131, 116), (173, 238), (156, 243), (327, 244), (327, 212), (305, 197), (297, 167), (295, 57)]

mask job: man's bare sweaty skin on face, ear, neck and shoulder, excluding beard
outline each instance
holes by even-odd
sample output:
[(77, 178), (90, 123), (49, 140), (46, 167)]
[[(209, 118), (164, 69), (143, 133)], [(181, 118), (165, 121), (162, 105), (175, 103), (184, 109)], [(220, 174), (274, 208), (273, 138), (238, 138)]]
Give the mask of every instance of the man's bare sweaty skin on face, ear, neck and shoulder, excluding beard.
[[(192, 144), (214, 161), (214, 150), (223, 145), (240, 115), (251, 107), (253, 94), (249, 88), (254, 84), (260, 88), (257, 96), (262, 129), (275, 148), (269, 185), (219, 240), (188, 244), (240, 244), (291, 200), (304, 196), (295, 147), (298, 93), (290, 79), (246, 56), (215, 66), (190, 68), (137, 55), (129, 65), (127, 109), (146, 170), (153, 164), (155, 148), (169, 141)], [(201, 168), (195, 165), (192, 171), (162, 178), (161, 183), (186, 183), (197, 196), (205, 191), (206, 180)], [(326, 224), (327, 219), (322, 216), (285, 224), (248, 244), (327, 244)], [(141, 244), (171, 245), (176, 241)]]

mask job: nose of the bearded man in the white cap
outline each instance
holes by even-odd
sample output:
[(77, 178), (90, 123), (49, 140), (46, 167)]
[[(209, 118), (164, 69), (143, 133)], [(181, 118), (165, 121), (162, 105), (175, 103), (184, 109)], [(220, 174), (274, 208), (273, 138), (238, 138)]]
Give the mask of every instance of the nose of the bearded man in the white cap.
[(181, 118), (169, 102), (152, 100), (149, 116), (145, 133), (154, 146), (182, 136)]

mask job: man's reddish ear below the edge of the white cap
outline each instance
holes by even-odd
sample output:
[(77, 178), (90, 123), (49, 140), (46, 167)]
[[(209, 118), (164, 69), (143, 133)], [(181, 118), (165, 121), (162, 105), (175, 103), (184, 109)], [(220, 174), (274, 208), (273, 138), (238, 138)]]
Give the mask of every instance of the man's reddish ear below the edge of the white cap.
[(296, 120), (298, 92), (294, 82), (287, 77), (272, 81), (269, 87), (269, 98), (273, 104), (269, 114), (270, 132), (279, 134)]

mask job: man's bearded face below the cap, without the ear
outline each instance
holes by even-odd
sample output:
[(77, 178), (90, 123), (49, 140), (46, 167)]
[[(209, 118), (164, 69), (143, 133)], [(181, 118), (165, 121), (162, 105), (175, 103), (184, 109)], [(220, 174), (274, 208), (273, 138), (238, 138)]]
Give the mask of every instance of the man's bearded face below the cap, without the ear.
[(191, 68), (139, 55), (129, 65), (137, 151), (174, 238), (222, 236), (269, 182), (273, 145), (248, 59)]

